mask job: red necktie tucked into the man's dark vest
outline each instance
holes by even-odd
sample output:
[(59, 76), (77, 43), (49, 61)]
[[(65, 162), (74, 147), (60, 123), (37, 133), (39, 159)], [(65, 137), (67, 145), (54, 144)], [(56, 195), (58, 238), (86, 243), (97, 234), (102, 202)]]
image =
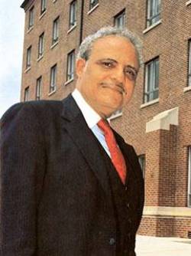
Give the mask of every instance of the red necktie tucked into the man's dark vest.
[(115, 166), (115, 169), (117, 170), (118, 175), (121, 178), (121, 181), (125, 184), (125, 178), (126, 178), (125, 159), (116, 143), (115, 136), (112, 132), (112, 129), (109, 126), (108, 122), (103, 119), (99, 121), (98, 126), (105, 134), (105, 141), (108, 145), (109, 152), (111, 153), (112, 163)]

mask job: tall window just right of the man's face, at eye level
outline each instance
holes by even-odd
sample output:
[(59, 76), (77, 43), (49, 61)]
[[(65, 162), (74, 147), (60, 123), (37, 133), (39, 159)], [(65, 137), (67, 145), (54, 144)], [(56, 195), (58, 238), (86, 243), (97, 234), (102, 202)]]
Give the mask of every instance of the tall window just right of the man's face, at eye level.
[(158, 98), (159, 58), (145, 66), (144, 103)]

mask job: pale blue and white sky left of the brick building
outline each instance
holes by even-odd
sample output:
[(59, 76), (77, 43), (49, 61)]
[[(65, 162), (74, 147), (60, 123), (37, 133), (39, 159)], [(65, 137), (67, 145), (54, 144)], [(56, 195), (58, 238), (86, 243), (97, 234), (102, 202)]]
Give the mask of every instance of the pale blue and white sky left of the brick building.
[(0, 0), (0, 118), (20, 101), (24, 38), (21, 0)]

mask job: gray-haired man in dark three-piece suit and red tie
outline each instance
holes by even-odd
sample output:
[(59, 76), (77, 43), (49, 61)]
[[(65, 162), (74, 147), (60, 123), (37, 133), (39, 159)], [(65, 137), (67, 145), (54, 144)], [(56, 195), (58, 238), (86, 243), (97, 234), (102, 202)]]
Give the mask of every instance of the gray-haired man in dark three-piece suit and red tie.
[(141, 169), (105, 119), (131, 99), (139, 65), (134, 35), (102, 28), (79, 48), (72, 95), (2, 117), (1, 255), (135, 255)]

